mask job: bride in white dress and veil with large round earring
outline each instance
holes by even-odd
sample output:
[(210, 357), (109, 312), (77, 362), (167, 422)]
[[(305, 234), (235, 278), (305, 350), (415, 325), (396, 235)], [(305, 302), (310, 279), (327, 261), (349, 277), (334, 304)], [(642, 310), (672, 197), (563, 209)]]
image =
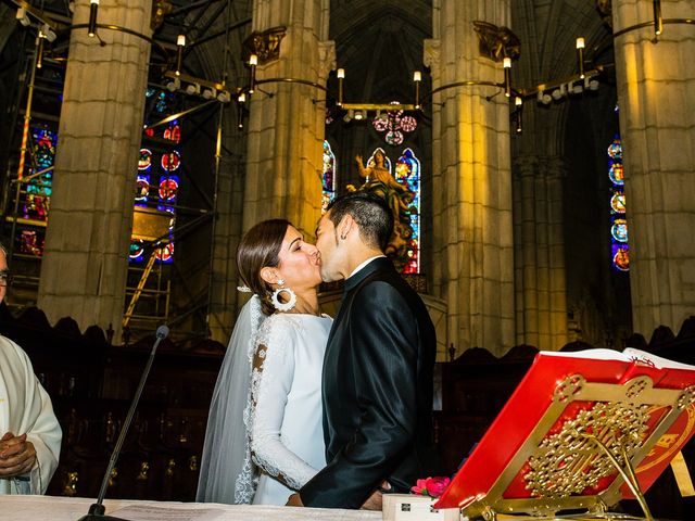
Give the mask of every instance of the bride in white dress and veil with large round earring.
[(321, 368), (331, 318), (319, 313), (319, 254), (290, 223), (265, 220), (237, 252), (254, 293), (213, 393), (198, 501), (285, 505), (326, 466)]

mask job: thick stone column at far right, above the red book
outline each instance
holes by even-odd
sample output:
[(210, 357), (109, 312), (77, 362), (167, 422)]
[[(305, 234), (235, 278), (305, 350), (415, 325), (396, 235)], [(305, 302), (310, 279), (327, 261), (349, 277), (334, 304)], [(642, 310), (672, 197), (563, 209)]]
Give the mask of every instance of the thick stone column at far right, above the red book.
[[(661, 1), (665, 18), (692, 2)], [(653, 20), (652, 2), (616, 0), (614, 31)], [(634, 331), (678, 331), (695, 314), (695, 38), (690, 25), (652, 26), (615, 39), (623, 143)]]

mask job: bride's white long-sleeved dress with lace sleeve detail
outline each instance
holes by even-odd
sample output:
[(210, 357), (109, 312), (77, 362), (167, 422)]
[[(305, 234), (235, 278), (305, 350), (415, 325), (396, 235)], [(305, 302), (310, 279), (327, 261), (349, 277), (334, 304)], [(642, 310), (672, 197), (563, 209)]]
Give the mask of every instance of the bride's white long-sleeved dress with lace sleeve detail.
[[(276, 314), (255, 339), (244, 411), (251, 457), (261, 469), (254, 504), (285, 505), (326, 466), (321, 370), (332, 319)], [(237, 491), (251, 483), (237, 483)]]

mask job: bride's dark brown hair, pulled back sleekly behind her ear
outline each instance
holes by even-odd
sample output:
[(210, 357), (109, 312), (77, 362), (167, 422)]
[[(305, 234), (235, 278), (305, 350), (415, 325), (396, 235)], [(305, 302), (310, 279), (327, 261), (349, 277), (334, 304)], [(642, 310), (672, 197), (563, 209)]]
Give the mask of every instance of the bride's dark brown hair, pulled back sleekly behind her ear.
[(287, 229), (292, 224), (286, 219), (262, 220), (241, 238), (237, 250), (237, 268), (249, 289), (261, 297), (265, 315), (273, 315), (270, 303), (273, 287), (261, 277), (261, 269), (280, 264), (280, 246)]

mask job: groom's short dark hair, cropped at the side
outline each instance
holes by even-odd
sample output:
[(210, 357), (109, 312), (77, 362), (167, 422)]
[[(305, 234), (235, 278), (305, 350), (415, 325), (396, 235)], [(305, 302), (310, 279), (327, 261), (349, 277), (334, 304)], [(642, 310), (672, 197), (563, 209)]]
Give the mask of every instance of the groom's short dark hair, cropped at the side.
[(328, 209), (333, 226), (350, 215), (357, 223), (364, 243), (386, 251), (393, 233), (393, 213), (383, 199), (369, 192), (350, 192), (336, 198)]

